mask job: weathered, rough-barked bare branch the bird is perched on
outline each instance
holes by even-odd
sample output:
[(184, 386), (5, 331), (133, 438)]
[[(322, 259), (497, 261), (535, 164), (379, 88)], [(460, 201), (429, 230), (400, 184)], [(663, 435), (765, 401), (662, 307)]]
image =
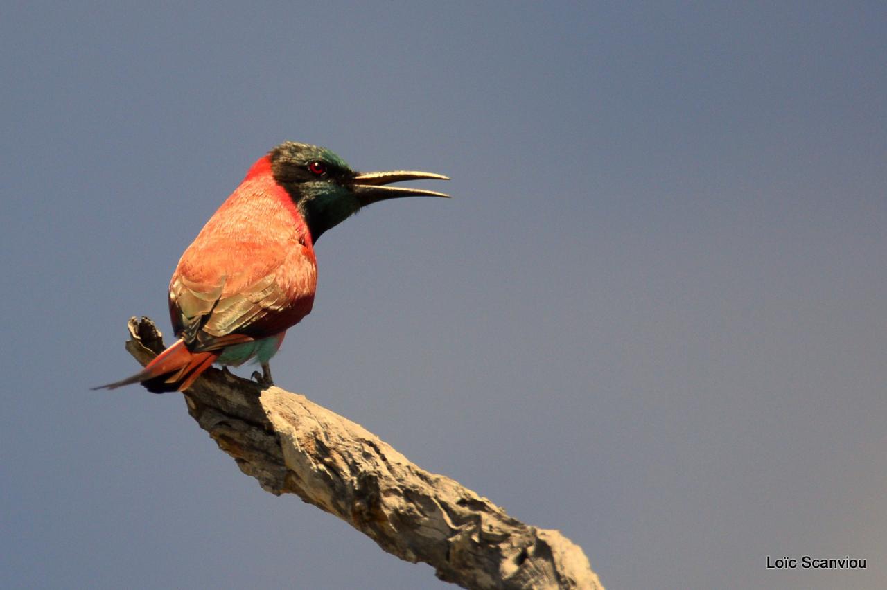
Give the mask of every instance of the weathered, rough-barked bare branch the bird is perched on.
[[(143, 365), (163, 349), (132, 318), (127, 350)], [(297, 393), (209, 369), (184, 392), (188, 412), (240, 470), (294, 493), (408, 562), (467, 588), (601, 589), (582, 549), (508, 516), (449, 477), (421, 470), (371, 432)]]

